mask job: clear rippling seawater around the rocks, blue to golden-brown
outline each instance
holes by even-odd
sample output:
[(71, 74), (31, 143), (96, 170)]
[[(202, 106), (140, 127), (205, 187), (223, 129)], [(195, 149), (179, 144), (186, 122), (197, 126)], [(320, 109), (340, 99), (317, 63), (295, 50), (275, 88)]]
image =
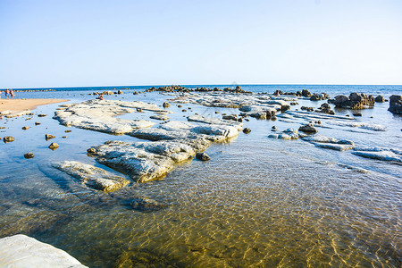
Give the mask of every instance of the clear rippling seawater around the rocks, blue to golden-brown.
[[(156, 105), (172, 97), (157, 92), (132, 95), (145, 88), (105, 97)], [(331, 96), (402, 94), (401, 86), (242, 88), (271, 93), (306, 88)], [(17, 97), (55, 97), (77, 103), (94, 98), (88, 95), (92, 91), (108, 89), (57, 88), (17, 92)], [(300, 100), (292, 110), (321, 104)], [(0, 137), (15, 138), (0, 144), (0, 237), (24, 233), (62, 248), (90, 267), (401, 266), (400, 163), (314, 147), (303, 140), (267, 138), (272, 126), (286, 130), (299, 124), (251, 118), (244, 126), (252, 130), (249, 134), (240, 133), (206, 149), (210, 161), (180, 163), (163, 180), (132, 182), (103, 193), (83, 187), (50, 163), (76, 160), (114, 172), (89, 157), (88, 147), (113, 139), (138, 139), (61, 126), (52, 119), (57, 107), (39, 106), (33, 116), (0, 119), (0, 127), (5, 127)], [(188, 112), (181, 112), (188, 107)], [(373, 109), (362, 110), (357, 119), (381, 124), (386, 131), (334, 127), (320, 128), (319, 133), (353, 140), (358, 147), (402, 150), (402, 117), (389, 113), (388, 107), (389, 103), (377, 103)], [(183, 108), (172, 104), (172, 120), (184, 120), (183, 116), (194, 113), (217, 118), (222, 113), (239, 113), (238, 109), (199, 105)], [(346, 115), (352, 111), (335, 112)], [(38, 117), (39, 113), (47, 116)], [(121, 118), (148, 115), (129, 113)], [(41, 124), (36, 126), (35, 121)], [(23, 126), (30, 128), (21, 130)], [(46, 133), (56, 138), (46, 141)], [(51, 142), (60, 147), (48, 149)], [(27, 152), (35, 157), (24, 159)], [(130, 201), (134, 197), (148, 197), (166, 207), (153, 212), (133, 210)]]

